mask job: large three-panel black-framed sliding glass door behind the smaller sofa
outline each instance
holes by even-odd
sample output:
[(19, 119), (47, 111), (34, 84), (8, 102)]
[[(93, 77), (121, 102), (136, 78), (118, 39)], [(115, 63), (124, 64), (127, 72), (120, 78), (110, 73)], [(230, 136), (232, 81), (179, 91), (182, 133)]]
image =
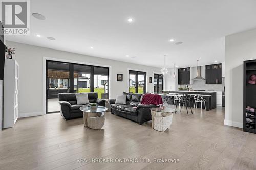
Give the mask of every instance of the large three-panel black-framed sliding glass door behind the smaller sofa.
[(107, 67), (47, 60), (46, 70), (46, 113), (59, 112), (58, 93), (97, 92), (109, 98)]

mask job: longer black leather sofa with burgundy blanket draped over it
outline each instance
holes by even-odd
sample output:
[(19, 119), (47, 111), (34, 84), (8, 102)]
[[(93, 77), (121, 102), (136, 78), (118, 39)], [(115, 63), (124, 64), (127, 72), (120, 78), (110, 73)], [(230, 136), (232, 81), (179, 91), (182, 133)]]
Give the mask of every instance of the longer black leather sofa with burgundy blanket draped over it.
[[(142, 94), (126, 93), (126, 104), (115, 104), (115, 99), (110, 99), (111, 113), (133, 120), (142, 125), (144, 122), (151, 120), (151, 107), (156, 105), (139, 104)], [(136, 107), (136, 108), (135, 108)]]

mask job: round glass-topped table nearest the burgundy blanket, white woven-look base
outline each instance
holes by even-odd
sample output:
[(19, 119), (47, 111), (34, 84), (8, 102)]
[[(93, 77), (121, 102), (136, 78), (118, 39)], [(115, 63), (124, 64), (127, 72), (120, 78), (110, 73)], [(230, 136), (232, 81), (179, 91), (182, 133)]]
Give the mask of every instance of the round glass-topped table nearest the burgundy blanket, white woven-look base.
[(150, 108), (152, 118), (152, 128), (157, 131), (164, 132), (166, 129), (170, 129), (170, 125), (173, 123), (173, 113), (175, 109), (167, 108), (161, 109), (159, 107)]

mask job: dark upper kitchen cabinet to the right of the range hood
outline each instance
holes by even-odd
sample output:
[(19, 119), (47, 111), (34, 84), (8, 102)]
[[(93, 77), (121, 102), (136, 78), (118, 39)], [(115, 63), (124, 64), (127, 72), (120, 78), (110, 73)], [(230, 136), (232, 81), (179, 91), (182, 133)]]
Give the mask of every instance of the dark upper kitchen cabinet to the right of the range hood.
[(206, 84), (221, 84), (221, 64), (212, 64), (205, 66), (205, 83)]

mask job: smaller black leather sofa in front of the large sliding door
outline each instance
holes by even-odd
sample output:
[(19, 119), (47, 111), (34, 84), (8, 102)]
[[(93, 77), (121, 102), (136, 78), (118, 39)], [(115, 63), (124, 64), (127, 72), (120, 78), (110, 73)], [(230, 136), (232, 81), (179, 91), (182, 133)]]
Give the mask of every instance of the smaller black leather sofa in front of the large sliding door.
[[(105, 100), (98, 98), (98, 93), (88, 93), (90, 103), (97, 103), (105, 106)], [(59, 93), (60, 113), (65, 120), (83, 117), (82, 111), (79, 109), (84, 105), (77, 105), (76, 93)]]

